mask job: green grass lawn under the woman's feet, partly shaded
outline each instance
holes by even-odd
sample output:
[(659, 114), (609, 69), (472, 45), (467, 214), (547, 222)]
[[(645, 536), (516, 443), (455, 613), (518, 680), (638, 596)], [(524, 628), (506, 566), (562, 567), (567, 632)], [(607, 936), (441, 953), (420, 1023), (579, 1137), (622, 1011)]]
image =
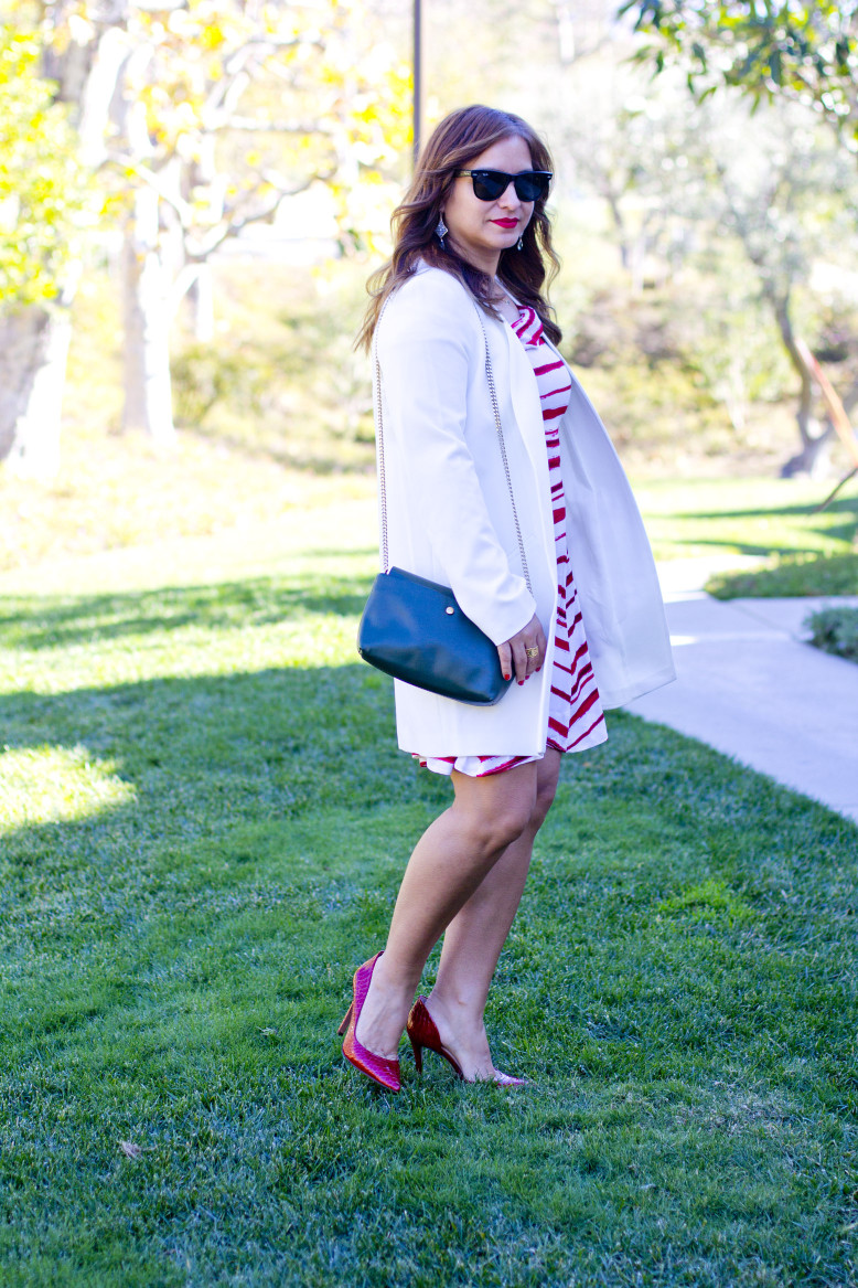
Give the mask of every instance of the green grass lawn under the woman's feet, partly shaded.
[(342, 1061), (449, 792), (355, 661), (370, 519), (0, 578), (4, 1288), (854, 1284), (858, 829), (677, 734), (563, 765), (488, 1016), (531, 1087)]

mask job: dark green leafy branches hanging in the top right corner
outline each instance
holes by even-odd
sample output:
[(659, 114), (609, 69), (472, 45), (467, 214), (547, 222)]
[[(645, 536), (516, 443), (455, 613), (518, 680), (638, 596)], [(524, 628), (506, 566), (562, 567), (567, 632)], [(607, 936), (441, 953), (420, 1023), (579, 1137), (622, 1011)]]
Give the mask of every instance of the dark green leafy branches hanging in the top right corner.
[(660, 37), (641, 57), (659, 71), (679, 58), (696, 93), (795, 97), (858, 149), (858, 0), (632, 0), (620, 13)]

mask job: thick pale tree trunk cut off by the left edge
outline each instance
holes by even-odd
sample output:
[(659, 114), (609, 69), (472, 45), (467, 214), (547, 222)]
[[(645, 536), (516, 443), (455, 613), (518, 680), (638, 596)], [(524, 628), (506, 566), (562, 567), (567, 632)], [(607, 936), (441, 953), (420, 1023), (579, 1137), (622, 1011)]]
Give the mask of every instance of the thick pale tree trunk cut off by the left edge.
[(67, 305), (28, 305), (0, 318), (0, 460), (15, 474), (51, 478), (71, 339)]

